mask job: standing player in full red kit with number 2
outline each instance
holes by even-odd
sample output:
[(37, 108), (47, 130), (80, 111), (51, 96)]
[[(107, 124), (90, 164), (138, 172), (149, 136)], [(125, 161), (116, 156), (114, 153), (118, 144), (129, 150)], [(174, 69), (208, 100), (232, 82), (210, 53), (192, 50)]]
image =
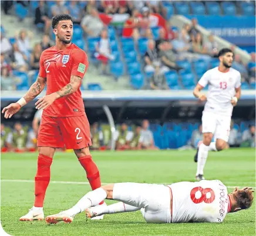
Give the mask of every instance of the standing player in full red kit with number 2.
[[(43, 220), (43, 201), (50, 181), (50, 165), (56, 148), (73, 149), (86, 171), (92, 189), (101, 186), (99, 170), (92, 160), (89, 146), (90, 126), (85, 114), (80, 85), (87, 70), (86, 53), (71, 43), (73, 21), (69, 15), (56, 15), (52, 19), (56, 45), (43, 51), (36, 82), (18, 102), (2, 110), (11, 118), (23, 105), (43, 91), (46, 95), (36, 102), (43, 109), (38, 132), (38, 169), (35, 176), (35, 203), (20, 220)], [(102, 202), (103, 203), (103, 202)], [(102, 204), (101, 203), (101, 204)]]

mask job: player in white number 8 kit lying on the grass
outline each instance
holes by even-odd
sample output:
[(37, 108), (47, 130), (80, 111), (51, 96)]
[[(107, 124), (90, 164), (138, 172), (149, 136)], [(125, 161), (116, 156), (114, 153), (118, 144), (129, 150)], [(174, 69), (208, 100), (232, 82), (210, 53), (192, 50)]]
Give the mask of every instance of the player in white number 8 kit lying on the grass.
[[(244, 210), (252, 205), (251, 187), (228, 194), (220, 180), (178, 182), (167, 186), (146, 183), (114, 183), (89, 191), (66, 211), (46, 217), (46, 222), (71, 223), (76, 214), (86, 217), (140, 210), (147, 223), (223, 222), (227, 213)], [(97, 206), (105, 199), (120, 201)], [(95, 207), (96, 206), (96, 207)]]

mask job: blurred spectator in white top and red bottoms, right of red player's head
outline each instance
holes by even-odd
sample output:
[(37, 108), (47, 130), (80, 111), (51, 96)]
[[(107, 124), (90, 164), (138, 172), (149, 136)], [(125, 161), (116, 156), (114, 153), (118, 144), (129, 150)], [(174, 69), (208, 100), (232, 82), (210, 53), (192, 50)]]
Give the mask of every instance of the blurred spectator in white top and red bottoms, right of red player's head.
[(107, 63), (109, 60), (114, 60), (111, 54), (109, 38), (107, 37), (107, 30), (103, 29), (100, 35), (99, 45), (96, 45), (95, 57), (102, 62), (102, 74), (106, 74)]

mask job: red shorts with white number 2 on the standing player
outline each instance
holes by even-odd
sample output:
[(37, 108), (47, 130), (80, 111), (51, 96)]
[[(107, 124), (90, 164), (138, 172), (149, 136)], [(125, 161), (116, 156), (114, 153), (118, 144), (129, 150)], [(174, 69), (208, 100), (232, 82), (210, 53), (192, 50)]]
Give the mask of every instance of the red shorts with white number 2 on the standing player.
[(80, 149), (91, 146), (90, 124), (86, 114), (80, 117), (48, 117), (42, 115), (38, 146)]

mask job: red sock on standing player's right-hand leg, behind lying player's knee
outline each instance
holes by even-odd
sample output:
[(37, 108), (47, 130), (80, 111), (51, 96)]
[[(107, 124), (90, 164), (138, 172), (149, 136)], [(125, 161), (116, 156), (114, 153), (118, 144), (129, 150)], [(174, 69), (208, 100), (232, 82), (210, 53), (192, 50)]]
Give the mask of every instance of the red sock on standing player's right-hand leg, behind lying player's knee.
[[(100, 182), (100, 173), (97, 165), (93, 162), (92, 155), (82, 156), (78, 158), (80, 164), (83, 166), (83, 169), (86, 171), (87, 179), (92, 187), (92, 190), (95, 190), (102, 186)], [(100, 204), (102, 204), (102, 201)]]

